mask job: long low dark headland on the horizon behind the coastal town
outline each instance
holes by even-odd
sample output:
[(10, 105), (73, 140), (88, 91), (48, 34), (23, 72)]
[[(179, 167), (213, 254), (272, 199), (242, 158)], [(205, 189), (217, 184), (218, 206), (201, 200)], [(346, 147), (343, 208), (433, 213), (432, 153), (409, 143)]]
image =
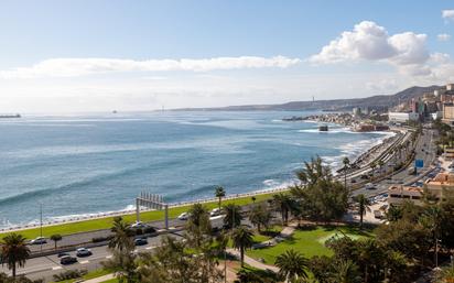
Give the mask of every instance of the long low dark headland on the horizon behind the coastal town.
[(227, 106), (216, 108), (181, 108), (177, 111), (206, 110), (206, 111), (248, 111), (248, 110), (352, 110), (354, 107), (372, 107), (388, 108), (398, 105), (399, 102), (408, 101), (412, 98), (422, 96), (424, 92), (433, 91), (441, 88), (440, 86), (429, 87), (410, 87), (394, 95), (378, 95), (366, 98), (350, 99), (333, 99), (333, 100), (315, 100), (315, 101), (290, 101), (281, 105), (245, 105), (245, 106)]

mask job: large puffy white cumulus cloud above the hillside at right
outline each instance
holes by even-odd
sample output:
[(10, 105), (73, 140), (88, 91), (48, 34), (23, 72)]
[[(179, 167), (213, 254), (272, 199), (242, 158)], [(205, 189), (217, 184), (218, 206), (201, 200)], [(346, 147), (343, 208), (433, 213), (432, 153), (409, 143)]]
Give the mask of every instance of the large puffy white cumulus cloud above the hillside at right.
[(425, 41), (425, 34), (412, 32), (390, 36), (383, 26), (363, 21), (311, 56), (310, 62), (328, 64), (365, 59), (388, 61), (398, 65), (421, 64), (429, 58)]

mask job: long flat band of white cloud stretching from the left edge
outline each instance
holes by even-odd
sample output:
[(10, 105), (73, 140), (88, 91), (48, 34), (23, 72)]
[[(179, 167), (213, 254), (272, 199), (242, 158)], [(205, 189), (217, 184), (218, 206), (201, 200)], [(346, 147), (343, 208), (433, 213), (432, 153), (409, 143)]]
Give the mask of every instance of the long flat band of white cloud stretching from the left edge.
[(74, 77), (111, 72), (209, 72), (242, 68), (287, 68), (299, 64), (299, 58), (274, 57), (215, 57), (202, 59), (117, 59), (117, 58), (52, 58), (31, 67), (1, 70), (3, 78)]

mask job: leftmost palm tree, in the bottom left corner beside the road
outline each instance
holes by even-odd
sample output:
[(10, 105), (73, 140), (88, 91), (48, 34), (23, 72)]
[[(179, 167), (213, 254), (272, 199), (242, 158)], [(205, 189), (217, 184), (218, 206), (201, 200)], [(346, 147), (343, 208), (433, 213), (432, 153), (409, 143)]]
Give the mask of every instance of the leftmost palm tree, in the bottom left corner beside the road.
[(0, 261), (2, 265), (7, 263), (8, 269), (12, 270), (13, 279), (15, 279), (15, 270), (18, 265), (23, 268), (29, 258), (30, 249), (26, 247), (25, 238), (22, 235), (10, 233), (3, 238)]

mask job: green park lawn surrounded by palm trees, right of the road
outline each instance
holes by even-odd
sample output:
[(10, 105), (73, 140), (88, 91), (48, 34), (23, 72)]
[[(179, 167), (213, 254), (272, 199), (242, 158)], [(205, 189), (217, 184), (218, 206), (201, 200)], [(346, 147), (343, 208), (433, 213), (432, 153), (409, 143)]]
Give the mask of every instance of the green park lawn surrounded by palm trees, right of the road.
[(354, 239), (363, 237), (371, 237), (370, 232), (361, 232), (353, 227), (314, 227), (314, 229), (296, 230), (291, 239), (278, 243), (271, 248), (263, 248), (259, 250), (249, 250), (247, 254), (255, 259), (263, 259), (268, 264), (274, 264), (275, 258), (287, 250), (294, 249), (300, 251), (306, 258), (314, 255), (332, 255), (332, 251), (327, 249), (324, 243), (331, 237), (342, 237), (343, 233)]

